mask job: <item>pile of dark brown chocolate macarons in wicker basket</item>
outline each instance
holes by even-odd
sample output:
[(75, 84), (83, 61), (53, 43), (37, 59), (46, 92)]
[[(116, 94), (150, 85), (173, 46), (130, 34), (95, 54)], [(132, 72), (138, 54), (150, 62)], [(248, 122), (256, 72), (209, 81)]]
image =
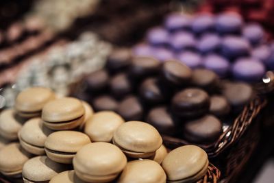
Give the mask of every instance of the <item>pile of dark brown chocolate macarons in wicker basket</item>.
[(254, 97), (245, 82), (221, 80), (176, 60), (131, 57), (124, 48), (114, 49), (105, 68), (86, 76), (79, 88), (73, 96), (95, 111), (112, 110), (125, 121), (145, 121), (162, 135), (198, 145), (215, 143)]

